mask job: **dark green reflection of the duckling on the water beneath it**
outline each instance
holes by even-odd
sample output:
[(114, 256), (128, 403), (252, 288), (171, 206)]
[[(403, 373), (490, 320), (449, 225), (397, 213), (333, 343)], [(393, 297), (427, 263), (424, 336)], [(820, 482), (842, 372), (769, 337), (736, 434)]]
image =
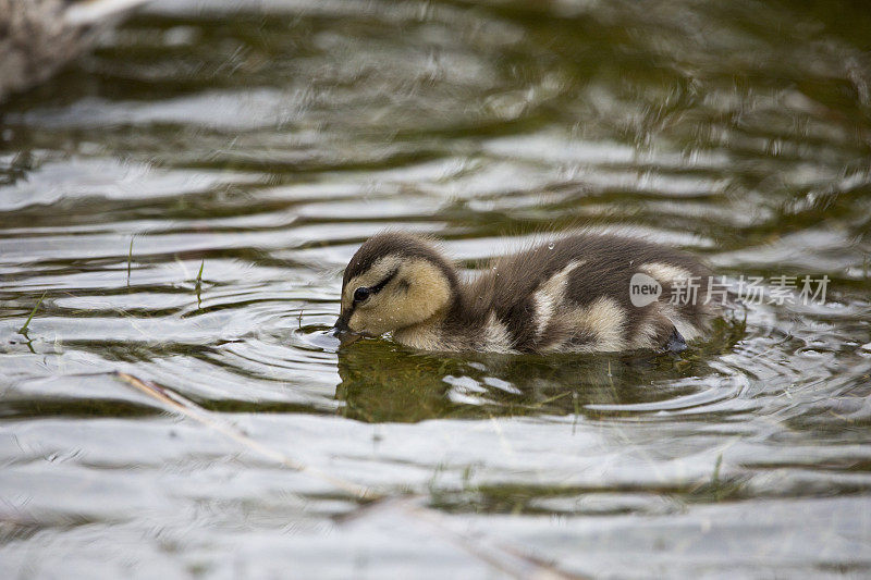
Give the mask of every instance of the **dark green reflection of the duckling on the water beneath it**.
[[(655, 403), (699, 386), (671, 384), (715, 373), (707, 363), (741, 335), (720, 321), (711, 341), (679, 357), (637, 351), (598, 356), (463, 357), (420, 354), (387, 341), (361, 341), (339, 353), (341, 412), (366, 422), (581, 414), (588, 405)], [(700, 382), (699, 384), (704, 384)], [(610, 415), (619, 410), (610, 410)]]

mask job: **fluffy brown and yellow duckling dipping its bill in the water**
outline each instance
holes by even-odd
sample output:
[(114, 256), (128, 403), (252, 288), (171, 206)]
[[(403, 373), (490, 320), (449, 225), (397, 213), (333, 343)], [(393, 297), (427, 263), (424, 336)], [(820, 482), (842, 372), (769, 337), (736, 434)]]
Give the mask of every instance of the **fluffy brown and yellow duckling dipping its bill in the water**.
[[(639, 306), (637, 274), (661, 286)], [(690, 280), (702, 282), (699, 299), (671, 304), (668, 291)], [(682, 251), (584, 233), (498, 258), (465, 282), (431, 239), (387, 232), (347, 264), (333, 334), (346, 344), (392, 333), (431, 351), (680, 351), (717, 314), (702, 304), (706, 280), (709, 270)]]

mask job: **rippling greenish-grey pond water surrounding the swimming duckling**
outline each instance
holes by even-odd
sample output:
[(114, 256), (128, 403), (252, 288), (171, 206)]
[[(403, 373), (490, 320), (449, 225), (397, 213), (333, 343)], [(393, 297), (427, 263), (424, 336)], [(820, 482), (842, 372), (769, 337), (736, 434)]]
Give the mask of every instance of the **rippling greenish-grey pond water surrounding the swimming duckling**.
[[(151, 4), (0, 106), (0, 576), (871, 573), (869, 49), (849, 0)], [(677, 357), (322, 335), (384, 227), (580, 225), (826, 295)]]

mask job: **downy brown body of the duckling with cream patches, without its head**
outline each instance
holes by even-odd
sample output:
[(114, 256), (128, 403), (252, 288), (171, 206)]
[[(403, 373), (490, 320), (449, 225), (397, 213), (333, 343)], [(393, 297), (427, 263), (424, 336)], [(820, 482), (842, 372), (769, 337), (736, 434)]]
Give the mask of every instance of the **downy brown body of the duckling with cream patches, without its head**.
[[(634, 298), (639, 280), (648, 294)], [(716, 314), (704, 299), (710, 282), (710, 271), (682, 251), (586, 234), (495, 260), (464, 293), (463, 310), (466, 324), (482, 329), (473, 340), (483, 350), (679, 349)], [(674, 299), (692, 285), (695, 299)]]

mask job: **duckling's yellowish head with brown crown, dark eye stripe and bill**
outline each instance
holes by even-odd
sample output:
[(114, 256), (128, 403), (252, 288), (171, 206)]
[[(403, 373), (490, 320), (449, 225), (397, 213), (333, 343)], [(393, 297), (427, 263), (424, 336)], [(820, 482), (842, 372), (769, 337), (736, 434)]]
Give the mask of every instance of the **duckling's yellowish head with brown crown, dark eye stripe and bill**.
[(343, 342), (436, 322), (457, 296), (454, 267), (426, 238), (397, 232), (370, 237), (345, 268)]

